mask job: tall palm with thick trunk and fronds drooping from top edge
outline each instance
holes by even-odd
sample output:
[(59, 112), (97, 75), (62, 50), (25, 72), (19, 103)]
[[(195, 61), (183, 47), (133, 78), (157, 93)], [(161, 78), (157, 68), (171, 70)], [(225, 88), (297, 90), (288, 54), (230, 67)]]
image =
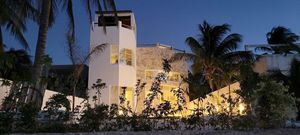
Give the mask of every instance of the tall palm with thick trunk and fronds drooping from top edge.
[[(114, 0), (84, 0), (85, 7), (89, 13), (89, 17), (91, 20), (91, 13), (93, 7), (96, 10), (99, 10), (102, 13), (104, 6), (105, 9), (112, 9), (115, 11), (115, 3)], [(48, 28), (54, 21), (54, 13), (57, 10), (57, 7), (62, 4), (62, 7), (66, 9), (68, 18), (69, 18), (69, 29), (67, 34), (75, 40), (75, 19), (73, 15), (73, 1), (72, 0), (40, 0), (37, 2), (38, 6), (40, 6), (41, 14), (39, 20), (39, 33), (38, 33), (38, 40), (36, 45), (36, 52), (35, 52), (35, 60), (34, 60), (34, 72), (33, 72), (33, 79), (36, 82), (35, 91), (38, 93), (34, 94), (33, 100), (36, 101), (37, 105), (41, 105), (42, 97), (44, 94), (43, 88), (41, 88), (41, 74), (43, 70), (43, 57), (45, 55), (45, 48), (46, 48), (46, 40), (47, 40), (47, 33)], [(110, 8), (109, 8), (110, 7)]]

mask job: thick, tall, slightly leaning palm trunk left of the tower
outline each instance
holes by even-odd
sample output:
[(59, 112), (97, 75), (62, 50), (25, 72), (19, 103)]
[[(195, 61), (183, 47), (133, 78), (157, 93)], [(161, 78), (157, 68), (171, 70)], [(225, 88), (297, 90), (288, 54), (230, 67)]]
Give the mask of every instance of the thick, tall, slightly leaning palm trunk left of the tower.
[(48, 27), (49, 27), (49, 17), (51, 9), (51, 0), (43, 0), (42, 10), (40, 15), (40, 26), (38, 33), (38, 40), (35, 50), (35, 59), (34, 59), (34, 71), (33, 71), (33, 80), (35, 83), (35, 90), (33, 91), (33, 101), (36, 102), (38, 106), (42, 105), (43, 95), (45, 90), (42, 86), (42, 66), (44, 62)]

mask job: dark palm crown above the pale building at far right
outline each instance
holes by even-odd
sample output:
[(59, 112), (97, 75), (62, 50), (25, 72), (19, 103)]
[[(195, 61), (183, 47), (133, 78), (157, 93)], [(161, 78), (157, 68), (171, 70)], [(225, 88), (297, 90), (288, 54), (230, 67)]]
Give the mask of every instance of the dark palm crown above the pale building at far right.
[(292, 53), (292, 51), (299, 52), (299, 47), (295, 44), (299, 40), (299, 36), (288, 28), (282, 26), (274, 27), (266, 36), (268, 44), (271, 46), (257, 47), (255, 50), (271, 52), (273, 54), (288, 54)]

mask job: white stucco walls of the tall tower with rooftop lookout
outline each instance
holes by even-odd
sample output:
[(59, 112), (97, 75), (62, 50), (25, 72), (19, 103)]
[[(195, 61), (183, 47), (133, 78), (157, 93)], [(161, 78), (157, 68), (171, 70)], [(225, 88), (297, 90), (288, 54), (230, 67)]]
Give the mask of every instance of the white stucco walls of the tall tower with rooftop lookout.
[[(104, 52), (92, 57), (89, 63), (89, 88), (96, 82), (97, 79), (102, 79), (107, 87), (101, 91), (101, 103), (111, 104), (110, 97), (119, 96), (111, 95), (111, 86), (126, 86), (134, 87), (136, 83), (136, 26), (132, 13), (119, 13), (119, 16), (131, 16), (132, 29), (122, 27), (121, 21), (118, 26), (106, 27), (106, 32), (103, 27), (94, 24), (91, 29), (91, 49), (99, 44), (107, 44)], [(96, 22), (98, 17), (96, 16)], [(133, 52), (133, 65), (125, 65), (122, 63), (111, 64), (111, 47), (117, 45), (119, 52), (122, 48), (131, 49)], [(119, 53), (120, 57), (120, 53)], [(93, 102), (93, 96), (97, 96), (96, 90), (89, 90), (89, 102)], [(99, 101), (99, 100), (98, 100)]]

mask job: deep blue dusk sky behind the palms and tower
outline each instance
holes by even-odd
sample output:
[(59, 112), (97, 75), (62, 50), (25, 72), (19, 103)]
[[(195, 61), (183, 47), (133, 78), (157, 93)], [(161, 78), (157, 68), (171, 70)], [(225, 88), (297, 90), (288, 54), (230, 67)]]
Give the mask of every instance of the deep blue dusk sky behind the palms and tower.
[[(198, 24), (204, 20), (211, 24), (228, 23), (232, 32), (243, 35), (244, 44), (266, 43), (266, 33), (274, 26), (285, 26), (300, 35), (299, 0), (115, 0), (118, 9), (135, 13), (138, 43), (168, 44), (188, 49), (184, 43), (188, 36), (197, 36)], [(82, 3), (74, 1), (77, 42), (82, 52), (88, 51), (89, 22)], [(47, 53), (54, 64), (69, 64), (66, 53), (65, 14), (57, 15), (49, 30)], [(33, 56), (38, 27), (28, 23), (26, 38)], [(20, 48), (8, 33), (4, 35), (8, 47)]]

